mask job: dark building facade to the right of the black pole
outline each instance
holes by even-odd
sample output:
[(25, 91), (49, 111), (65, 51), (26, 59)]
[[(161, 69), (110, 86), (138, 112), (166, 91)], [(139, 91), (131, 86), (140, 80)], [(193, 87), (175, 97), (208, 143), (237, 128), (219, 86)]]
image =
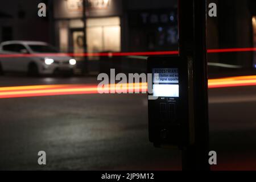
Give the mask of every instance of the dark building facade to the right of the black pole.
[[(208, 18), (209, 49), (255, 47), (256, 2), (251, 0), (216, 0), (217, 17)], [(208, 61), (255, 67), (254, 52), (210, 53)]]

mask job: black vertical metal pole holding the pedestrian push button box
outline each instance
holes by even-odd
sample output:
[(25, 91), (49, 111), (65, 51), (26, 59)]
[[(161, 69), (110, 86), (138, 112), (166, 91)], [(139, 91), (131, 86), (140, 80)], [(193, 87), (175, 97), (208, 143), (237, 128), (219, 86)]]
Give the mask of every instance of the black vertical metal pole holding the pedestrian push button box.
[(179, 52), (192, 61), (195, 143), (182, 152), (183, 170), (209, 171), (206, 0), (179, 0)]

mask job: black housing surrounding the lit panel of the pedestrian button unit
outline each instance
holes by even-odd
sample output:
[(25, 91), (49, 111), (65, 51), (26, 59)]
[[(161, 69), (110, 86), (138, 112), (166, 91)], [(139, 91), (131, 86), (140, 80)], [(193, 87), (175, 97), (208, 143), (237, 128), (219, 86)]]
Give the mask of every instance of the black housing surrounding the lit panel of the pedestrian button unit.
[[(150, 142), (154, 143), (155, 147), (188, 146), (191, 141), (189, 139), (188, 62), (186, 59), (175, 56), (148, 57), (147, 72), (154, 75), (153, 69), (178, 70), (179, 97), (148, 99)], [(152, 84), (154, 85), (154, 76), (152, 76)], [(168, 83), (165, 84), (168, 85)], [(148, 93), (148, 98), (150, 96), (153, 96), (153, 93)]]

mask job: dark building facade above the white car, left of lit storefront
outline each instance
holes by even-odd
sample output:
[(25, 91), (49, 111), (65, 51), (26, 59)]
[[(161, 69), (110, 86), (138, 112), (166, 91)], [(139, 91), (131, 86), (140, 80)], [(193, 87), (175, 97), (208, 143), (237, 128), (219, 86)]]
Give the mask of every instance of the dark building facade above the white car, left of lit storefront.
[(47, 0), (9, 0), (0, 6), (0, 42), (38, 40), (50, 42), (49, 16), (39, 18), (38, 4)]

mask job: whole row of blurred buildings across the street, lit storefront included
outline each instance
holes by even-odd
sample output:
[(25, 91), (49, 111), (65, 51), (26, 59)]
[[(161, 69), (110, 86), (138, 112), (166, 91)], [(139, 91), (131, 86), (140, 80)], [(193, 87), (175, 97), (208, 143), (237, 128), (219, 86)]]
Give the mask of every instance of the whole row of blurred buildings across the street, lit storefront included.
[[(37, 15), (40, 2), (47, 4), (46, 18)], [(217, 17), (208, 16), (208, 49), (256, 47), (256, 1), (211, 2)], [(9, 0), (0, 7), (0, 42), (39, 40), (61, 52), (172, 51), (178, 49), (177, 32), (177, 0)], [(89, 57), (96, 67), (99, 59)], [(251, 69), (256, 56), (209, 53), (208, 61)]]

